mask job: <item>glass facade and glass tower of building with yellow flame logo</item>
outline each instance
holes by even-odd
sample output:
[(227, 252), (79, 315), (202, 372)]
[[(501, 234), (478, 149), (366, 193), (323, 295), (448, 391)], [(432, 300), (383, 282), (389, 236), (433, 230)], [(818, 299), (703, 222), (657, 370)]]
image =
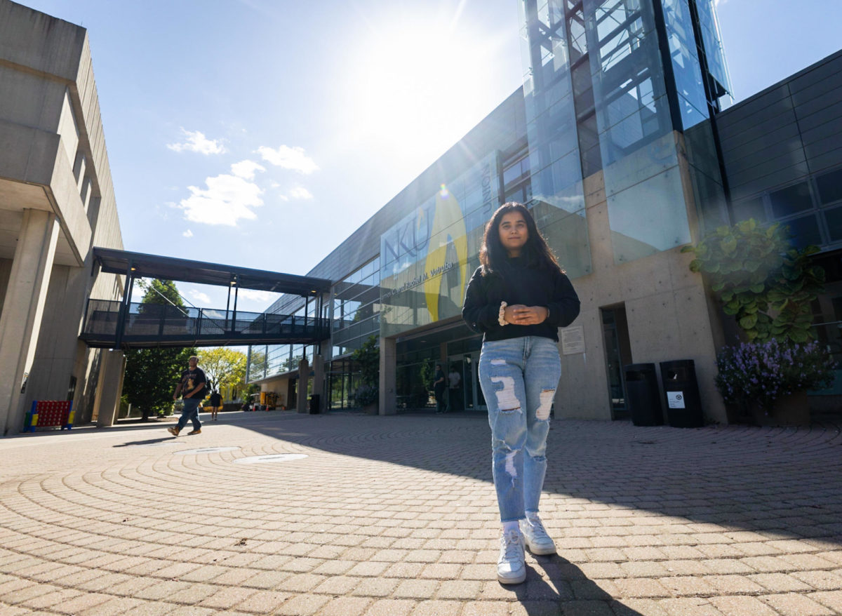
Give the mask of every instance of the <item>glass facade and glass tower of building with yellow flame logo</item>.
[[(439, 361), (461, 374), (458, 404), (484, 408), (474, 374), (480, 337), (456, 317), (484, 226), (505, 201), (527, 204), (573, 279), (592, 271), (587, 182), (605, 187), (616, 263), (689, 243), (690, 191), (703, 224), (727, 220), (711, 115), (730, 85), (713, 0), (519, 5), (524, 116), (515, 124), (525, 124), (499, 133), (506, 141), (483, 146), (470, 167), (445, 172), (438, 189), (376, 231), (379, 256), (334, 284), (332, 353), (324, 353), (331, 408), (352, 406), (359, 372), (349, 355), (372, 335), (397, 338), (399, 408), (430, 404)], [(482, 138), (493, 140), (488, 130)], [(836, 210), (826, 226), (842, 226)], [(283, 374), (301, 357), (312, 359), (312, 348), (253, 348), (249, 375)]]

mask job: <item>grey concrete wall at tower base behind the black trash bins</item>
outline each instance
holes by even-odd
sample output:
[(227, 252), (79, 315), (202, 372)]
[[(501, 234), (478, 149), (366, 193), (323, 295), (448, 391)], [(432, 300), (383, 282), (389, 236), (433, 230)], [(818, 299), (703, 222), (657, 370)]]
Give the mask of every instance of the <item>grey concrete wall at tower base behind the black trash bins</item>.
[[(680, 148), (679, 135), (676, 143)], [(685, 157), (679, 157), (679, 167), (691, 229), (695, 229), (695, 205)], [(725, 408), (713, 383), (717, 374), (716, 350), (722, 343), (721, 327), (701, 275), (690, 272), (692, 255), (674, 248), (616, 264), (613, 242), (626, 238), (610, 230), (601, 172), (585, 178), (584, 194), (593, 273), (573, 280), (582, 302), (573, 325), (584, 327), (586, 351), (562, 354), (557, 417), (612, 418), (600, 308), (623, 304), (632, 363), (653, 363), (658, 369), (659, 362), (694, 360), (706, 419), (726, 423)]]

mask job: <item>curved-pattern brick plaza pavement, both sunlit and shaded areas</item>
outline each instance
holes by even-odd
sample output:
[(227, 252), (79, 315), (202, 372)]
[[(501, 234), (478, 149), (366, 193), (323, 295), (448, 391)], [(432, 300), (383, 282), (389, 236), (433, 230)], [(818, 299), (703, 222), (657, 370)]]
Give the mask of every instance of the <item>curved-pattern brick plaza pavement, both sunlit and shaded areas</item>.
[(504, 587), (482, 417), (0, 439), (0, 613), (842, 614), (837, 427), (557, 421), (549, 441), (559, 555)]

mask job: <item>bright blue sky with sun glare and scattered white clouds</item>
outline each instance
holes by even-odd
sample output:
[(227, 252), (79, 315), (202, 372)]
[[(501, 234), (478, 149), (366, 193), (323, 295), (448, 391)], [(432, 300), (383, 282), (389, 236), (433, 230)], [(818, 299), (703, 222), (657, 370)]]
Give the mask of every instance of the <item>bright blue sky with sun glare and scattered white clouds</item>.
[[(523, 73), (517, 0), (23, 3), (88, 29), (125, 249), (242, 267), (306, 273)], [(737, 100), (842, 48), (839, 0), (717, 11)]]

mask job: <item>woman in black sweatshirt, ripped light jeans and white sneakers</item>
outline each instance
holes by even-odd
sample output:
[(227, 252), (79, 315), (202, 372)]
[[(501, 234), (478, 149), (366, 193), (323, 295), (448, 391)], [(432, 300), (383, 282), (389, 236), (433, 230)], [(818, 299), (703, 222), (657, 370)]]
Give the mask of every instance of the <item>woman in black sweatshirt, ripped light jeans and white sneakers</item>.
[(480, 267), (462, 317), (482, 332), (479, 380), (491, 425), (492, 472), (502, 523), (497, 579), (526, 579), (524, 546), (556, 552), (538, 516), (546, 436), (558, 380), (558, 328), (578, 316), (573, 284), (523, 204), (501, 205), (488, 221)]

